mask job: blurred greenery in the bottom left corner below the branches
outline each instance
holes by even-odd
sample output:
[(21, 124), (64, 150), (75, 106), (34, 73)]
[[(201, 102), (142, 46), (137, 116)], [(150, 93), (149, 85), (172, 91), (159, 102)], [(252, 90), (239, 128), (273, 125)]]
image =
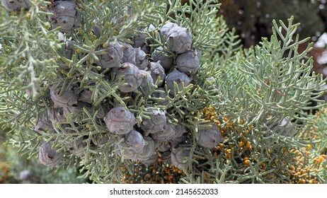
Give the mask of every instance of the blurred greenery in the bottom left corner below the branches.
[(8, 145), (13, 136), (0, 129), (0, 184), (79, 184), (89, 182), (72, 167), (52, 170), (38, 163), (38, 158), (21, 155)]

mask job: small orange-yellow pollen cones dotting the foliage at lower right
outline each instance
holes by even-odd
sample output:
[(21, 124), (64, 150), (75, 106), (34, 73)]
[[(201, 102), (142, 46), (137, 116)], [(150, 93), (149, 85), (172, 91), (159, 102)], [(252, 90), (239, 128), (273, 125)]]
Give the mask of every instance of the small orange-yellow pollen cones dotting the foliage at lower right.
[[(327, 111), (326, 111), (327, 112)], [(220, 143), (218, 146), (216, 146), (216, 148), (214, 148), (213, 151), (213, 156), (214, 158), (220, 158), (223, 156), (223, 158), (226, 159), (226, 161), (229, 161), (229, 159), (231, 158), (236, 158), (238, 156), (233, 156), (233, 153), (235, 155), (236, 152), (234, 149), (239, 149), (239, 153), (242, 153), (242, 151), (246, 151), (243, 152), (241, 157), (241, 165), (243, 165), (244, 167), (249, 167), (250, 165), (255, 165), (256, 163), (258, 163), (258, 156), (260, 156), (260, 149), (256, 149), (256, 153), (253, 153), (253, 145), (251, 144), (251, 141), (249, 141), (249, 139), (247, 139), (247, 134), (253, 133), (253, 126), (247, 126), (244, 122), (244, 120), (232, 120), (229, 117), (219, 117), (219, 115), (217, 115), (217, 112), (214, 110), (214, 107), (205, 107), (204, 111), (203, 111), (203, 115), (204, 115), (204, 119), (205, 120), (210, 120), (211, 122), (214, 122), (217, 124), (217, 126), (219, 127), (219, 129), (221, 129), (222, 135), (224, 136), (224, 139), (228, 139), (229, 136), (228, 134), (230, 134), (229, 130), (234, 130), (234, 136), (233, 139), (236, 139), (237, 143), (233, 144), (234, 142), (229, 141), (229, 144), (223, 144)], [(312, 131), (317, 132), (318, 129), (316, 129), (316, 127), (311, 127)], [(312, 137), (314, 139), (319, 139), (319, 136), (312, 133)], [(307, 149), (311, 149), (312, 146), (308, 145)], [(289, 152), (287, 150), (287, 148), (283, 148), (283, 151), (285, 153), (285, 156), (289, 156)], [(270, 149), (268, 149), (268, 156), (270, 155), (271, 151)], [(309, 156), (309, 151), (306, 151), (307, 156)], [(251, 157), (252, 156), (252, 157)], [(326, 161), (326, 156), (321, 155), (319, 157), (316, 157), (313, 159), (313, 162), (317, 165), (322, 165), (323, 162)], [(265, 171), (268, 169), (268, 165), (269, 166), (280, 166), (283, 165), (284, 167), (287, 166), (286, 163), (279, 161), (278, 159), (276, 159), (273, 162), (270, 162), (269, 164), (266, 162), (260, 162), (260, 170), (259, 171)], [(316, 176), (314, 176), (314, 174), (312, 172), (317, 172), (319, 169), (318, 168), (314, 168), (314, 169), (310, 169), (309, 165), (304, 167), (304, 156), (298, 156), (297, 157), (297, 167), (295, 167), (294, 165), (290, 165), (289, 166), (289, 175), (292, 178), (292, 183), (318, 183), (318, 180), (316, 178)], [(303, 168), (301, 168), (303, 167)], [(276, 170), (276, 171), (280, 171), (280, 170)], [(277, 179), (275, 177), (274, 173), (270, 173), (268, 175), (266, 175), (267, 177), (270, 177), (271, 179)]]

